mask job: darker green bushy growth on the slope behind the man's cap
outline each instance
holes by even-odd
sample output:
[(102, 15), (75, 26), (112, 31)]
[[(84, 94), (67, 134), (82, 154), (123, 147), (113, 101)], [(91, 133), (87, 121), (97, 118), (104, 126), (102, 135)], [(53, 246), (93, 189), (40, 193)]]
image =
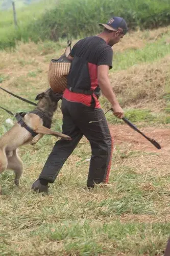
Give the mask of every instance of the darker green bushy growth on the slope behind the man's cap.
[[(9, 45), (29, 38), (38, 42), (93, 35), (101, 30), (98, 24), (113, 15), (124, 17), (131, 30), (166, 26), (170, 24), (169, 4), (170, 0), (161, 0), (161, 4), (159, 0), (59, 0), (53, 9), (10, 35)], [(0, 48), (4, 45), (0, 41)]]

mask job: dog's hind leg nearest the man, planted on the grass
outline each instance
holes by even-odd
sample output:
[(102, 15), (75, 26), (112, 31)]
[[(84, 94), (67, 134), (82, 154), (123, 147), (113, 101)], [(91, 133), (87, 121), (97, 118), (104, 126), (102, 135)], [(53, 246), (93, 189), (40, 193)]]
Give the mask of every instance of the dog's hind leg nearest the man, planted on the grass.
[(17, 154), (17, 150), (13, 151), (13, 155), (8, 158), (8, 169), (12, 169), (15, 172), (15, 185), (19, 186), (19, 179), (22, 175), (23, 163)]

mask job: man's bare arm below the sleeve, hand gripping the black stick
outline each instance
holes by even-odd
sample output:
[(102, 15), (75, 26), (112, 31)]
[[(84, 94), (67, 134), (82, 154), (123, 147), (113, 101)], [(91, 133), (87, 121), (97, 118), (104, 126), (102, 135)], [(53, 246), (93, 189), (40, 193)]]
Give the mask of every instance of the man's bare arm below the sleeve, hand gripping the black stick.
[(98, 83), (103, 95), (110, 101), (112, 108), (114, 110), (114, 115), (118, 118), (124, 117), (124, 111), (120, 107), (116, 96), (111, 87), (109, 79), (109, 66), (100, 65), (98, 66)]

